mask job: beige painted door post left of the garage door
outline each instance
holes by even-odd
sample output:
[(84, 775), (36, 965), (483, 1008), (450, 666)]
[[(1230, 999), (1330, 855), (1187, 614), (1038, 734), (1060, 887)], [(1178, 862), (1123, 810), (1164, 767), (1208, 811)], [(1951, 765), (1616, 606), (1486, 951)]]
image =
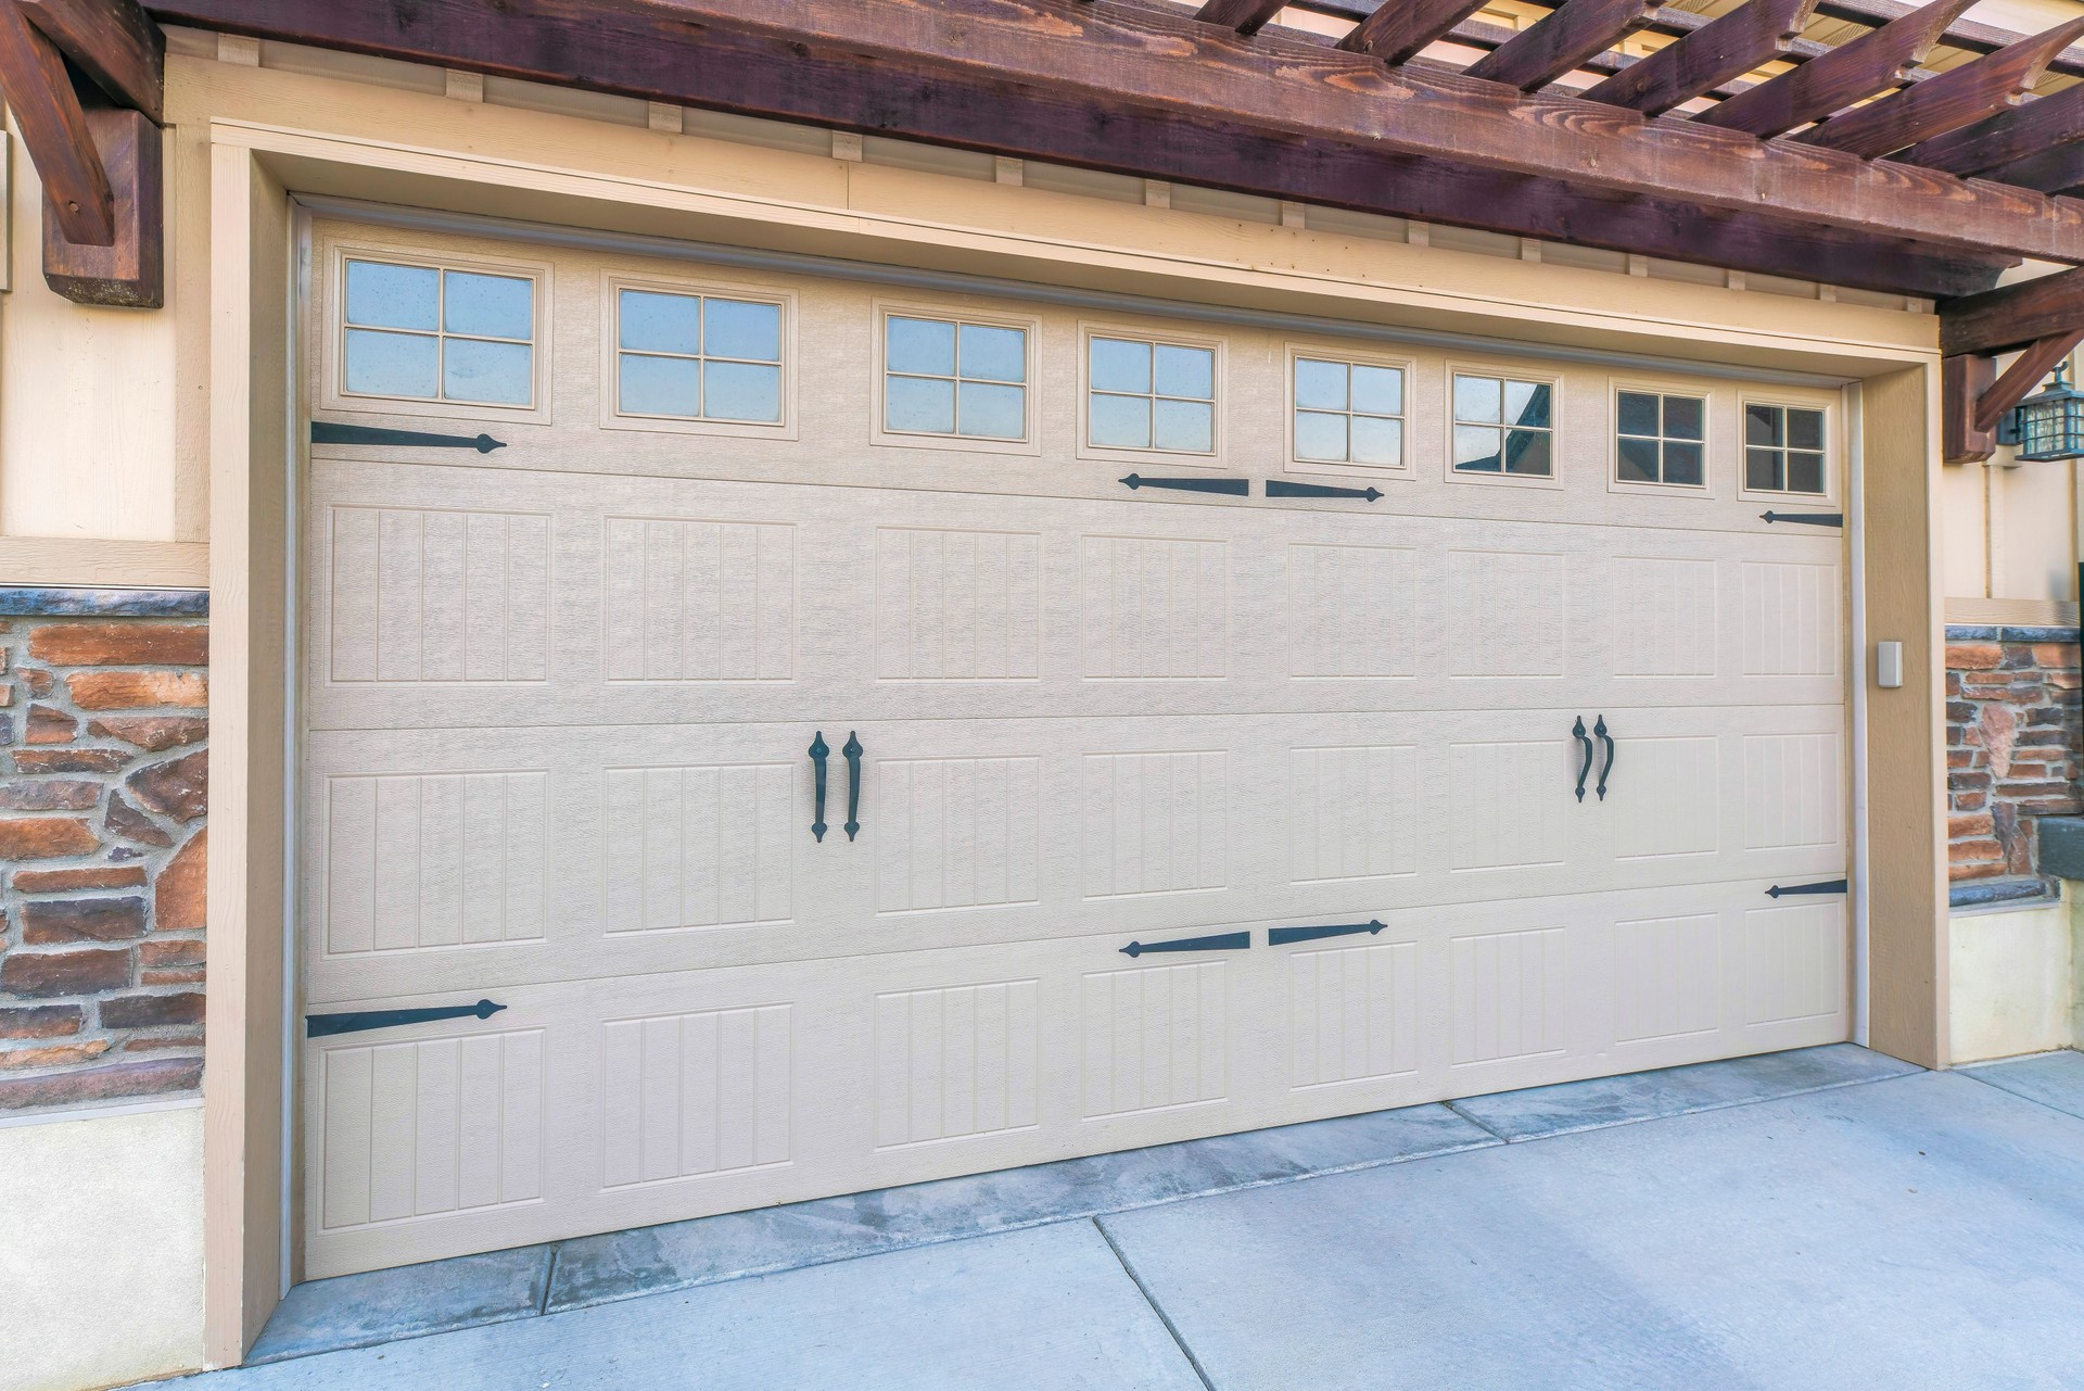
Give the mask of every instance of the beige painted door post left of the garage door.
[(246, 1356), (281, 1291), (283, 655), (290, 202), (210, 150), (210, 1057), (204, 1358)]

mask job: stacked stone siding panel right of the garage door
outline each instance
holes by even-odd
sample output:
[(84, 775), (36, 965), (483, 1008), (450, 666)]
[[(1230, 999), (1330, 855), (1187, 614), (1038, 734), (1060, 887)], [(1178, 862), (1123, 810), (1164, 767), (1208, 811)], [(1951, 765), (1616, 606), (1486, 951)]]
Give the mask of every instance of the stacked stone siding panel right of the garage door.
[(2038, 874), (2034, 820), (2078, 815), (2071, 628), (1946, 630), (1949, 863), (1955, 882)]

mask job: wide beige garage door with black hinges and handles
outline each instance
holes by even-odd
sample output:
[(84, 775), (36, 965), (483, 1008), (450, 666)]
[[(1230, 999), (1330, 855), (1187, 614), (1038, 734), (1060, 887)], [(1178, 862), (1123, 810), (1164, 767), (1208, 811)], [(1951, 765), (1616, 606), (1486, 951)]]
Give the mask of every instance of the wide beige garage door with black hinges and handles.
[(1836, 394), (315, 269), (311, 1276), (1846, 1036)]

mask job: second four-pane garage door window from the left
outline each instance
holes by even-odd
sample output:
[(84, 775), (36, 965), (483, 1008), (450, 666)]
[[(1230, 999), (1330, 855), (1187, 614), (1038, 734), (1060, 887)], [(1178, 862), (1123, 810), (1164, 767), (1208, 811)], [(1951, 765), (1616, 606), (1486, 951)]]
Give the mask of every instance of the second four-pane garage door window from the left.
[(715, 294), (617, 292), (623, 415), (782, 423), (782, 304)]

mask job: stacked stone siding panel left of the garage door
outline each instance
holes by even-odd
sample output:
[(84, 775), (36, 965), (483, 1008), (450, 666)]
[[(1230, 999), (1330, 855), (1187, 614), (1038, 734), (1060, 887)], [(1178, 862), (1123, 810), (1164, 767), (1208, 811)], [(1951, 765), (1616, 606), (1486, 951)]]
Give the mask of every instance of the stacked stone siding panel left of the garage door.
[(0, 1112), (202, 1082), (208, 642), (0, 617)]

